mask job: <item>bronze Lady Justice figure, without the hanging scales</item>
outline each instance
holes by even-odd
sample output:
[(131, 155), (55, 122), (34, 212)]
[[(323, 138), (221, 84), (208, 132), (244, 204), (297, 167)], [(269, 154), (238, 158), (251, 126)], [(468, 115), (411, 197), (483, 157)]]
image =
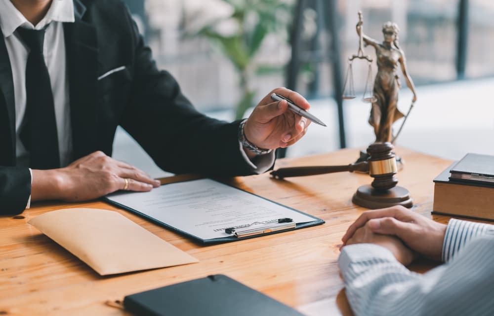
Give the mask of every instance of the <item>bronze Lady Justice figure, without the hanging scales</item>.
[(407, 71), (405, 53), (398, 45), (398, 32), (396, 23), (386, 22), (382, 27), (384, 41), (375, 39), (362, 33), (362, 18), (357, 23), (357, 34), (363, 39), (364, 44), (375, 48), (377, 59), (377, 74), (374, 80), (374, 102), (371, 107), (369, 124), (374, 128), (376, 142), (394, 142), (392, 125), (402, 118), (404, 114), (397, 108), (398, 92), (400, 90), (400, 78), (397, 73), (398, 64), (401, 66), (407, 86), (412, 90), (412, 106), (417, 100), (415, 86)]

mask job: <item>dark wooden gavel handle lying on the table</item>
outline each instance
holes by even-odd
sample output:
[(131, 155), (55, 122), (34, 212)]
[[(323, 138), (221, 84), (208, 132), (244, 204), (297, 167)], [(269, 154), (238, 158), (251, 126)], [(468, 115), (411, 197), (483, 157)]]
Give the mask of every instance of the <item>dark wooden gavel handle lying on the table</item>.
[(367, 161), (362, 161), (359, 163), (343, 165), (343, 166), (311, 166), (311, 167), (280, 168), (278, 170), (272, 171), (271, 176), (278, 179), (283, 179), (289, 176), (314, 176), (314, 175), (332, 174), (335, 172), (342, 172), (342, 171), (368, 172), (369, 163)]

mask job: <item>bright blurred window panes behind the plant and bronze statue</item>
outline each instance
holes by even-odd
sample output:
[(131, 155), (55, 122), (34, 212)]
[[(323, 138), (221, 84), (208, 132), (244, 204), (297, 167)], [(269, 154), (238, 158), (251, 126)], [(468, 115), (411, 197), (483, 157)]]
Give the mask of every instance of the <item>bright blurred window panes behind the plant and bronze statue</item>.
[[(232, 3), (242, 0), (125, 0), (135, 14), (141, 32), (153, 49), (158, 66), (170, 71), (184, 94), (201, 110), (233, 108), (242, 96), (239, 75), (219, 51), (205, 38), (184, 36), (188, 28), (199, 28), (222, 14)], [(246, 0), (247, 1), (247, 0)], [(253, 5), (256, 1), (251, 0)], [(296, 0), (280, 0), (294, 4)], [(298, 77), (298, 90), (309, 98), (329, 97), (333, 91), (332, 64), (327, 55), (330, 43), (325, 29), (326, 0), (306, 0), (312, 8), (303, 12), (303, 50), (314, 55), (304, 62)], [(458, 11), (460, 0), (337, 0), (340, 17), (339, 39), (342, 74), (348, 57), (357, 52), (355, 25), (357, 12), (364, 15), (364, 32), (382, 41), (382, 24), (396, 22), (400, 28), (399, 44), (407, 57), (408, 70), (416, 85), (451, 81), (457, 78)], [(205, 8), (207, 10), (205, 10)], [(466, 77), (494, 75), (494, 1), (468, 1), (468, 47)], [(288, 29), (288, 26), (287, 26)], [(288, 32), (287, 32), (288, 34)], [(366, 52), (375, 60), (371, 47)], [(325, 55), (326, 54), (326, 55)], [(256, 75), (252, 89), (257, 98), (272, 87), (285, 85), (284, 67), (290, 59), (287, 38), (268, 36), (256, 57), (257, 65), (270, 65)], [(363, 91), (367, 64), (354, 63), (357, 91)], [(375, 62), (372, 73), (375, 75)], [(400, 77), (403, 75), (399, 71)], [(343, 78), (344, 79), (344, 78)], [(404, 85), (404, 88), (405, 85)]]

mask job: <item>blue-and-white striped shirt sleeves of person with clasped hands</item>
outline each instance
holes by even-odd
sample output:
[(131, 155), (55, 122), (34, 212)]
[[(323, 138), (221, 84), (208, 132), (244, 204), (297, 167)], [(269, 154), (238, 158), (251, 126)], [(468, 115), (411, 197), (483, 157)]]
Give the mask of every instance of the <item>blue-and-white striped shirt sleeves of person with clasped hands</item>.
[(494, 315), (494, 225), (451, 219), (445, 264), (411, 272), (387, 248), (344, 246), (338, 265), (356, 316)]

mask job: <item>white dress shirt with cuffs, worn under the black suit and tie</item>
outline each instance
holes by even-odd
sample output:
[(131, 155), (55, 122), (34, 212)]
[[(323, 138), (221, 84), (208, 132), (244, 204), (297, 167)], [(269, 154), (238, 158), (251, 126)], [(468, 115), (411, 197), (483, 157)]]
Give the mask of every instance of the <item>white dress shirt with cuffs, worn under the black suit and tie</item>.
[[(55, 106), (60, 165), (65, 167), (72, 162), (72, 126), (70, 119), (69, 78), (66, 71), (66, 50), (62, 22), (74, 22), (74, 2), (72, 0), (53, 0), (45, 17), (34, 26), (29, 22), (10, 0), (0, 0), (0, 27), (10, 58), (15, 99), (16, 157), (18, 165), (29, 166), (29, 152), (19, 138), (20, 126), (26, 112), (26, 64), (29, 50), (17, 35), (17, 28), (41, 30), (46, 25), (43, 55), (50, 76), (51, 90)], [(240, 142), (239, 142), (240, 143)], [(242, 145), (240, 150), (252, 171), (260, 174), (273, 164), (274, 152), (262, 157), (248, 159)], [(31, 171), (31, 169), (30, 169)], [(29, 198), (26, 208), (30, 207)]]

